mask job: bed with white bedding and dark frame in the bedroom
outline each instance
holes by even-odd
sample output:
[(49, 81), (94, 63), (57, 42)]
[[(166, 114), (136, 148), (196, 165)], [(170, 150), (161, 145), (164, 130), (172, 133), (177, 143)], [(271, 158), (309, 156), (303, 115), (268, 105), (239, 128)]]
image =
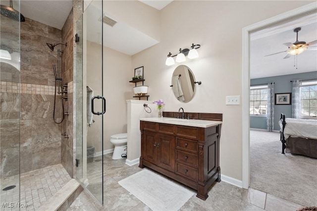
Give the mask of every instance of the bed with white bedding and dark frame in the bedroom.
[(317, 158), (317, 119), (285, 118), (281, 113), (279, 124), (282, 154)]

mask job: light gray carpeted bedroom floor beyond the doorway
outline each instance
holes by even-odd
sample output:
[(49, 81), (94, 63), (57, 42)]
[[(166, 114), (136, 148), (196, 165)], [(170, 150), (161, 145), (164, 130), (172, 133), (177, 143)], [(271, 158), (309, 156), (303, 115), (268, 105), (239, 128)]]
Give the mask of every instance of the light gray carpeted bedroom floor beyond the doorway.
[(279, 133), (250, 131), (250, 187), (317, 206), (317, 158), (281, 154)]

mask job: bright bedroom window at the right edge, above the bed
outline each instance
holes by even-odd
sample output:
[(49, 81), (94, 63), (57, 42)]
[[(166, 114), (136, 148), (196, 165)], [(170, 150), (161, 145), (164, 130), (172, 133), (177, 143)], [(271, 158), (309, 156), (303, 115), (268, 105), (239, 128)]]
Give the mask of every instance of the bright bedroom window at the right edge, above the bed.
[(301, 87), (302, 117), (317, 116), (317, 81), (302, 82)]

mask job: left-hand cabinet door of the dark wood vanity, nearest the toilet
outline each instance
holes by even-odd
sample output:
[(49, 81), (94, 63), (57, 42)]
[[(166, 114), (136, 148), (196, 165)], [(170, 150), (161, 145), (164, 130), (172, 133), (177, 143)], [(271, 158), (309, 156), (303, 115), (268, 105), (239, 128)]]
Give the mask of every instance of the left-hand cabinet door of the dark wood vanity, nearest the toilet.
[(156, 142), (156, 133), (150, 131), (143, 131), (143, 140), (144, 146), (142, 150), (143, 159), (156, 164), (156, 152), (157, 142)]

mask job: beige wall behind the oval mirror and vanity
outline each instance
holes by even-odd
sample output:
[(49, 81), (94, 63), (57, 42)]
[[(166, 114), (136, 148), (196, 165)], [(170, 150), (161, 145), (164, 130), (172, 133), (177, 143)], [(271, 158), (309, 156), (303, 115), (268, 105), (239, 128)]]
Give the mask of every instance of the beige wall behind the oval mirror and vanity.
[[(181, 1), (160, 11), (160, 43), (132, 56), (144, 66), (151, 100), (163, 99), (164, 111), (223, 113), (220, 139), (221, 173), (242, 180), (242, 106), (226, 106), (225, 96), (242, 95), (242, 28), (312, 1)], [(181, 11), (181, 12), (180, 12)], [(177, 63), (166, 66), (168, 52), (200, 44), (200, 57), (182, 62), (193, 71), (194, 99), (177, 101), (170, 85)]]

